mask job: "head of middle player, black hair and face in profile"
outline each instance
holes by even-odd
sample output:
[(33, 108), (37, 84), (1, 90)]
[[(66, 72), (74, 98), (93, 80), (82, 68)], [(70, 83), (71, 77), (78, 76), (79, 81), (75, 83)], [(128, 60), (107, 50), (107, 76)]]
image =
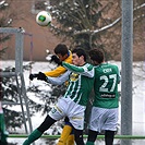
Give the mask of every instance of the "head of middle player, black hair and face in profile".
[(75, 65), (83, 65), (86, 61), (86, 52), (84, 49), (76, 47), (72, 50), (72, 63)]

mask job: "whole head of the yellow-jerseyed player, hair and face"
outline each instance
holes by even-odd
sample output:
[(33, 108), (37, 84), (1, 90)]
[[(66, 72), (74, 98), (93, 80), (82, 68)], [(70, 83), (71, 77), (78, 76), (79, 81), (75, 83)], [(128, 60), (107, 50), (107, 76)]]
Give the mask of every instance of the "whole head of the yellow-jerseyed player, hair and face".
[(65, 60), (69, 57), (69, 49), (64, 44), (57, 45), (53, 51), (61, 61)]

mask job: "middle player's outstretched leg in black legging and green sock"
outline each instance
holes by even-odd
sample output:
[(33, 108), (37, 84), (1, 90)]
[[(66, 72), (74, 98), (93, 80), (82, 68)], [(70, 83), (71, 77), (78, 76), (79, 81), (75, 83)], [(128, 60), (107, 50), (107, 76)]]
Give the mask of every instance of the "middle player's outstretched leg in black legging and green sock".
[(38, 140), (43, 133), (48, 130), (55, 122), (56, 120), (53, 120), (50, 116), (47, 116), (44, 122), (28, 135), (23, 145), (31, 145), (34, 141)]

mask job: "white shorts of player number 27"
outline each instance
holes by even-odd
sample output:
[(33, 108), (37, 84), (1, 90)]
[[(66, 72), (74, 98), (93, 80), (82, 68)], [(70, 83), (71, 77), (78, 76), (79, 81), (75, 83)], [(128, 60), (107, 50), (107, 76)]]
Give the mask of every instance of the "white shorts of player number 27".
[(105, 109), (93, 107), (89, 120), (89, 129), (93, 131), (117, 131), (118, 125), (118, 108)]

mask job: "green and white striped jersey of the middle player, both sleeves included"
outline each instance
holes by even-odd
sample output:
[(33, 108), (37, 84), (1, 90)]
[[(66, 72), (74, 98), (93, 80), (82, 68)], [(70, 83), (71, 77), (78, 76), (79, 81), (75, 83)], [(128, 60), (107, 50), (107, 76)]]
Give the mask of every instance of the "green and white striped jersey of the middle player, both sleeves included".
[(69, 71), (60, 77), (48, 76), (48, 82), (60, 85), (69, 80), (69, 86), (64, 97), (71, 98), (78, 105), (86, 106), (89, 93), (94, 86), (94, 67), (89, 63), (85, 63), (83, 67), (75, 67), (65, 62), (62, 62), (62, 65)]

